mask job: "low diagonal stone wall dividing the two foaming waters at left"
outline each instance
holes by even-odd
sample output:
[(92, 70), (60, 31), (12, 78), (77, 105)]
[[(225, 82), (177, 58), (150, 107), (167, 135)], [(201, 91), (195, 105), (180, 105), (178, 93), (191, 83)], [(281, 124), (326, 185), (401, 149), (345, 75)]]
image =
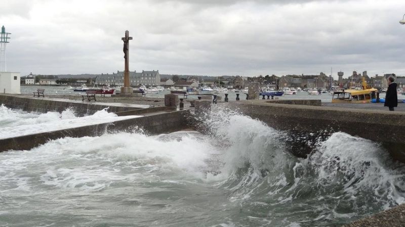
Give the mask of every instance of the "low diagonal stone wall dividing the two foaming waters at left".
[(141, 132), (150, 135), (180, 131), (188, 128), (187, 121), (184, 120), (187, 114), (188, 111), (186, 110), (173, 112), (159, 111), (139, 118), (0, 139), (0, 152), (30, 150), (50, 140), (64, 137), (95, 137), (106, 132)]

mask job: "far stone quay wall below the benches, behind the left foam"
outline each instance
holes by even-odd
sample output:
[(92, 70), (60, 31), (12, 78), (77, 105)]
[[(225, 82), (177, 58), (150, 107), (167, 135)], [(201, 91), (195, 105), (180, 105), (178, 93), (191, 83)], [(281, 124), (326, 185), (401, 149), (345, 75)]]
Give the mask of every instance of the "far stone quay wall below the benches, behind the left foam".
[(27, 112), (46, 113), (48, 111), (62, 112), (67, 108), (72, 108), (78, 116), (91, 115), (95, 112), (109, 108), (109, 112), (123, 112), (129, 110), (138, 110), (142, 108), (130, 106), (114, 106), (113, 104), (100, 104), (96, 102), (77, 102), (69, 100), (57, 100), (46, 98), (28, 98), (10, 95), (0, 95), (0, 104), (8, 108), (20, 109)]

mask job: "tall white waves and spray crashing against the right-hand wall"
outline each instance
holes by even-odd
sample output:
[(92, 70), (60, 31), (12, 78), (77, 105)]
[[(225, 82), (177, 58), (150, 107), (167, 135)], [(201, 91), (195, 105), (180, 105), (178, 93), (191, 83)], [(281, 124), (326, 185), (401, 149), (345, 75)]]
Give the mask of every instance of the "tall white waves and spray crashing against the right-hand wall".
[[(291, 223), (310, 226), (313, 220), (339, 223), (404, 202), (405, 168), (374, 142), (335, 132), (316, 140), (303, 159), (289, 153), (286, 138), (292, 135), (258, 120), (216, 106), (199, 118), (211, 129), (207, 134), (226, 143), (216, 185), (229, 190), (229, 200), (240, 207), (259, 212), (260, 204), (280, 215), (279, 207), (297, 204)], [(293, 217), (303, 214), (313, 220)]]

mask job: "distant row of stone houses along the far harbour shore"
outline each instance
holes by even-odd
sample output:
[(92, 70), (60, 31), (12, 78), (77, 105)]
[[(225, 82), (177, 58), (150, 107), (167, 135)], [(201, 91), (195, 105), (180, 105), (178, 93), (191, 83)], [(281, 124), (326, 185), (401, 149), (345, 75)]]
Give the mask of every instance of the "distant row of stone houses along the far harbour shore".
[[(405, 77), (396, 77), (394, 73), (384, 74), (383, 76), (369, 77), (367, 71), (363, 71), (362, 74), (353, 71), (352, 75), (346, 79), (343, 79), (343, 72), (338, 72), (339, 79), (333, 80), (331, 76), (327, 76), (325, 73), (320, 72), (319, 75), (286, 75), (286, 76), (275, 76), (270, 77), (254, 77), (252, 79), (242, 76), (227, 76), (227, 77), (218, 77), (211, 78), (202, 81), (197, 76), (188, 76), (187, 78), (181, 78), (178, 81), (173, 81), (171, 78), (161, 78), (159, 70), (136, 72), (130, 71), (130, 85), (131, 86), (192, 86), (197, 87), (200, 84), (205, 85), (218, 85), (227, 87), (227, 88), (245, 88), (249, 86), (251, 82), (260, 82), (262, 86), (273, 87), (275, 89), (282, 89), (284, 87), (301, 87), (301, 88), (330, 88), (330, 86), (341, 86), (341, 87), (350, 87), (351, 83), (361, 83), (361, 79), (365, 78), (366, 82), (369, 85), (372, 85), (376, 88), (386, 88), (387, 78), (393, 77), (398, 84), (398, 87), (405, 87)], [(77, 83), (86, 83), (87, 80), (77, 80)], [(112, 74), (101, 74), (96, 77), (95, 80), (98, 84), (107, 84), (107, 85), (124, 85), (124, 72), (117, 71)], [(35, 84), (35, 76), (30, 73), (25, 77), (26, 84)], [(40, 79), (39, 84), (56, 84), (55, 79)]]

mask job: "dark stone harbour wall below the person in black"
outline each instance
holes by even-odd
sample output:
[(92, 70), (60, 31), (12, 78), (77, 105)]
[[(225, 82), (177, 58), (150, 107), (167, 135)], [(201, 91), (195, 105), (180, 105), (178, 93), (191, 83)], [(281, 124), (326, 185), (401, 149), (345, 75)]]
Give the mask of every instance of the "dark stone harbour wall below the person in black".
[(394, 159), (405, 163), (404, 112), (287, 105), (260, 100), (232, 102), (226, 106), (290, 134), (291, 152), (299, 157), (306, 157), (317, 141), (342, 131), (380, 142)]

